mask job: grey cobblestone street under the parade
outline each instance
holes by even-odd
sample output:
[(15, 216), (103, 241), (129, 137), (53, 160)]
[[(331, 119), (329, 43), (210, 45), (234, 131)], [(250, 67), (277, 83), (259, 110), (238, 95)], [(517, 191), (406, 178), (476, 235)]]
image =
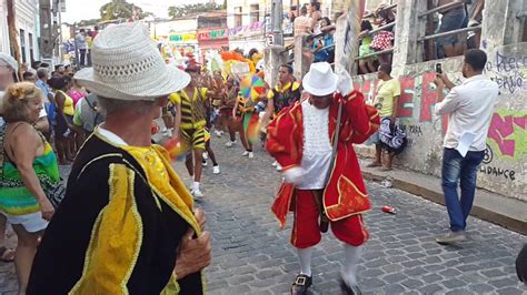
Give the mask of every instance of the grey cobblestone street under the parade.
[[(212, 233), (209, 294), (288, 293), (299, 265), (289, 244), (291, 216), (279, 231), (269, 210), (280, 180), (272, 160), (260, 150), (255, 159), (242, 157), (240, 144), (228, 149), (217, 138), (212, 148), (221, 174), (212, 174), (209, 161), (203, 169), (206, 196), (198, 202)], [(176, 163), (176, 169), (190, 184), (183, 164)], [(366, 223), (371, 236), (359, 265), (365, 294), (526, 294), (514, 266), (525, 236), (470, 217), (467, 242), (440, 246), (434, 237), (447, 228), (443, 206), (377, 183), (368, 187), (374, 208)], [(396, 207), (397, 215), (382, 213), (384, 205)], [(12, 232), (9, 236), (14, 246)], [(314, 294), (340, 294), (341, 261), (341, 243), (326, 234), (314, 252)], [(0, 293), (16, 291), (13, 264), (0, 263)]]

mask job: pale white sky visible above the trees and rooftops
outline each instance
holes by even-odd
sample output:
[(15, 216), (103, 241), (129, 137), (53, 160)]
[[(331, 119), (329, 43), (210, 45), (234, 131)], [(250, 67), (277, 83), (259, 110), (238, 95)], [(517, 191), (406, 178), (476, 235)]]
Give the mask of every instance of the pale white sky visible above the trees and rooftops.
[[(97, 19), (100, 17), (99, 8), (110, 0), (66, 0), (66, 13), (62, 13), (62, 21), (73, 23), (76, 21)], [(128, 0), (143, 11), (152, 12), (156, 17), (167, 18), (168, 7), (181, 3), (180, 0)], [(186, 0), (185, 3), (206, 2), (203, 0)]]

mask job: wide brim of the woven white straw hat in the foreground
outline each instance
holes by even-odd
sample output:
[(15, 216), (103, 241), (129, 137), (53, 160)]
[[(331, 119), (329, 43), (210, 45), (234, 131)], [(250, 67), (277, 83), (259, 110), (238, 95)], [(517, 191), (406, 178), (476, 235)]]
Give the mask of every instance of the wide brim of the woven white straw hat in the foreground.
[(109, 81), (100, 81), (95, 77), (93, 68), (78, 71), (73, 79), (99, 96), (126, 101), (152, 101), (178, 92), (190, 83), (190, 75), (172, 65), (167, 65), (155, 79), (130, 81), (128, 85), (112, 85)]

